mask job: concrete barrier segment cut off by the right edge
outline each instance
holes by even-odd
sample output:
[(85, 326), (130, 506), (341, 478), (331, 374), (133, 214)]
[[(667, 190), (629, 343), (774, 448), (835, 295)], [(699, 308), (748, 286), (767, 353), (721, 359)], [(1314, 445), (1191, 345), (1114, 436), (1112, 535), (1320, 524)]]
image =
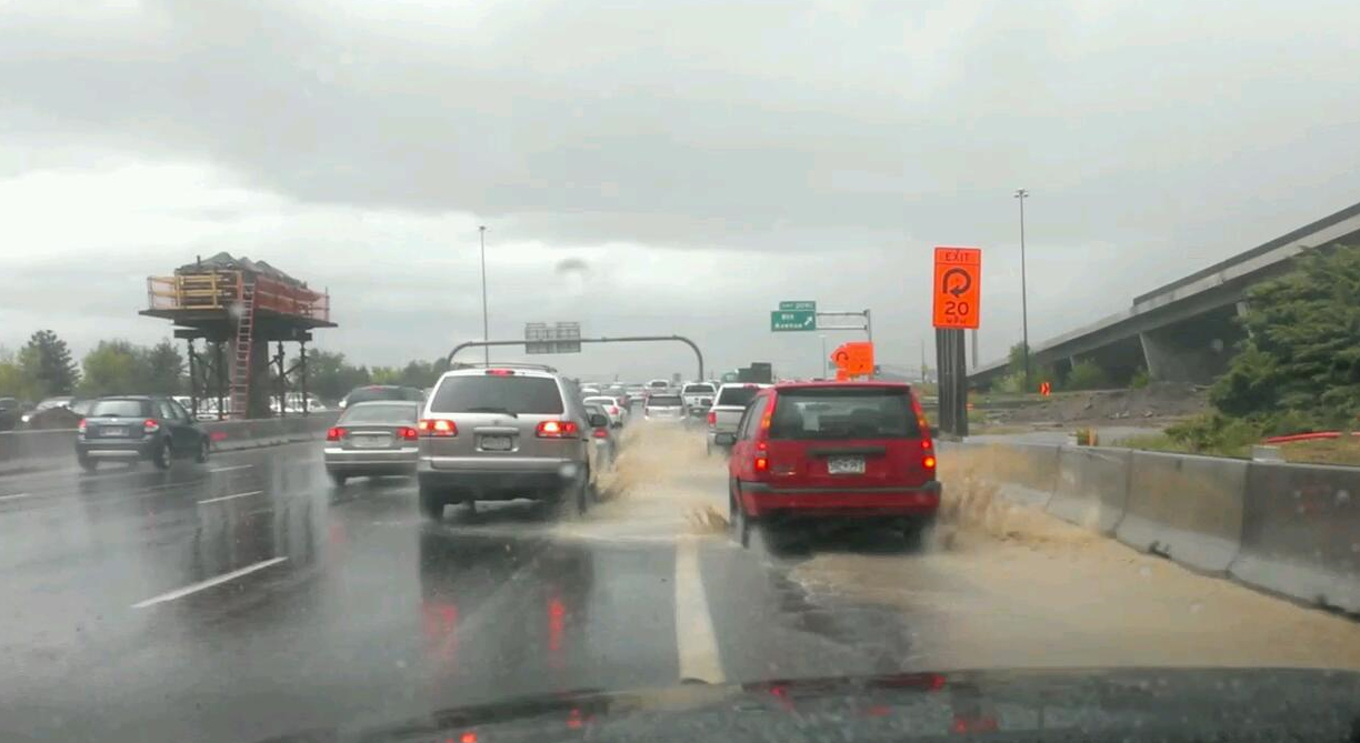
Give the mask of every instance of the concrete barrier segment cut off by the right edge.
[(1248, 465), (1242, 550), (1228, 573), (1302, 602), (1360, 613), (1360, 469)]

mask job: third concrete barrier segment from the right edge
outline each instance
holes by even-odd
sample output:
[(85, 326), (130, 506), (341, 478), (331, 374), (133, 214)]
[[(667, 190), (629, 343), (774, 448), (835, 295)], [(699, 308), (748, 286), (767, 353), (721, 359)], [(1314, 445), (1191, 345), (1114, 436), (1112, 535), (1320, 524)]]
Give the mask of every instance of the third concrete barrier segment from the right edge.
[(1102, 534), (1114, 534), (1129, 497), (1130, 451), (1062, 447), (1049, 513)]

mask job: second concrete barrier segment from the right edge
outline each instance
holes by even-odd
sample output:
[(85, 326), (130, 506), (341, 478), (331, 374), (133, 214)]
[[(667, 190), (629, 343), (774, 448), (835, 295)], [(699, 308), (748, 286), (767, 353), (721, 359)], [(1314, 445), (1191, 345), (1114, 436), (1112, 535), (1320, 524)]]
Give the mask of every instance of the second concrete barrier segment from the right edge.
[(1129, 499), (1115, 537), (1205, 572), (1225, 572), (1242, 538), (1247, 462), (1132, 452)]

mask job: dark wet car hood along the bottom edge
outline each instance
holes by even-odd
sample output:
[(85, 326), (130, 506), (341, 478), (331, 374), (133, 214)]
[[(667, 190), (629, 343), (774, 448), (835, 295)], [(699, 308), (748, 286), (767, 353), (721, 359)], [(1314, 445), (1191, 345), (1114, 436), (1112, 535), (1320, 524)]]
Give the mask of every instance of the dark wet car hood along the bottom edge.
[[(573, 691), (271, 740), (1360, 739), (1360, 674), (1093, 668)], [(1019, 733), (1019, 735), (1017, 735)]]

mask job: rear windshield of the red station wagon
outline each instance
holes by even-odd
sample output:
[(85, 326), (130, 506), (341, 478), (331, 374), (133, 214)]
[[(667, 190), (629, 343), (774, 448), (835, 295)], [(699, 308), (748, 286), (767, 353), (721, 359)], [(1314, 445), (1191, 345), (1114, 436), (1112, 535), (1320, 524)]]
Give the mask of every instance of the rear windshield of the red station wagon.
[(828, 387), (781, 391), (771, 439), (914, 439), (921, 436), (907, 390)]

